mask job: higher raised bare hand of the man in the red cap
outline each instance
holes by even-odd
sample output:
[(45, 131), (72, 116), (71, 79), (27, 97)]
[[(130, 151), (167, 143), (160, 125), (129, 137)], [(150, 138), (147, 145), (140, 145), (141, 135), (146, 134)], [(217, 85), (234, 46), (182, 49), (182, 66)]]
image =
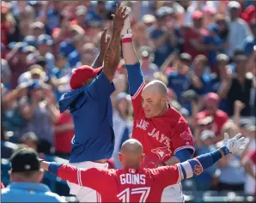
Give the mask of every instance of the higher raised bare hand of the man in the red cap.
[(124, 7), (124, 4), (121, 3), (120, 5), (117, 3), (115, 14), (112, 15), (113, 17), (113, 30), (121, 32), (125, 25), (125, 19), (128, 17), (128, 14), (126, 14), (126, 7)]

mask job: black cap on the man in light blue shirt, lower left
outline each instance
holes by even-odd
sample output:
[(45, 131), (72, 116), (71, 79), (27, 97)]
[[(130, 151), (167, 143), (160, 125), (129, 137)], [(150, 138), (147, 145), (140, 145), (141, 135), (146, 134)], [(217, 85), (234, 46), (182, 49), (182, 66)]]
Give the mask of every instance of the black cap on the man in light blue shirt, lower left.
[(38, 155), (33, 149), (21, 149), (14, 152), (10, 158), (12, 172), (40, 170)]

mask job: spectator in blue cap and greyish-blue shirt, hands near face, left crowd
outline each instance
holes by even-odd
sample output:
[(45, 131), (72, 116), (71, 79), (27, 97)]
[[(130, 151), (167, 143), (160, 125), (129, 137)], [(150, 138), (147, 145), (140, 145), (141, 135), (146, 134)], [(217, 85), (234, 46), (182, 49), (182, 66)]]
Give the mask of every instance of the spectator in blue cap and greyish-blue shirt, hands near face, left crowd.
[(55, 102), (52, 90), (43, 82), (33, 80), (28, 84), (27, 97), (23, 97), (19, 104), (21, 116), (27, 121), (20, 128), (19, 136), (34, 132), (40, 141), (39, 152), (46, 154), (51, 154), (54, 146), (52, 124), (58, 120)]

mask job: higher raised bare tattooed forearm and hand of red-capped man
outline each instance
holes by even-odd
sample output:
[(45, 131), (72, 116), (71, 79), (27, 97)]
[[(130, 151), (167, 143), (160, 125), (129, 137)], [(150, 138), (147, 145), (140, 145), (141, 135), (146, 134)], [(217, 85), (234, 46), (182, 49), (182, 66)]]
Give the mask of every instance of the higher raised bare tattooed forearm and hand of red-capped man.
[(113, 81), (116, 69), (118, 68), (121, 55), (121, 31), (125, 24), (125, 19), (128, 15), (125, 14), (126, 7), (116, 5), (115, 14), (113, 16), (113, 34), (110, 43), (107, 47), (104, 57), (103, 73), (109, 81)]

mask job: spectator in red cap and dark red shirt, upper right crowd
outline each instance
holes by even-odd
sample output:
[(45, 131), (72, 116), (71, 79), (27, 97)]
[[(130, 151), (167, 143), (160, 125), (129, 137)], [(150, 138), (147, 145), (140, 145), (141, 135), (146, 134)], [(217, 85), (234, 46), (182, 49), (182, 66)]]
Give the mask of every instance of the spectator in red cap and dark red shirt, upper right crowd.
[(199, 54), (207, 56), (204, 38), (208, 35), (208, 31), (203, 27), (204, 14), (201, 11), (195, 11), (192, 14), (192, 26), (186, 28), (184, 51), (195, 58)]

